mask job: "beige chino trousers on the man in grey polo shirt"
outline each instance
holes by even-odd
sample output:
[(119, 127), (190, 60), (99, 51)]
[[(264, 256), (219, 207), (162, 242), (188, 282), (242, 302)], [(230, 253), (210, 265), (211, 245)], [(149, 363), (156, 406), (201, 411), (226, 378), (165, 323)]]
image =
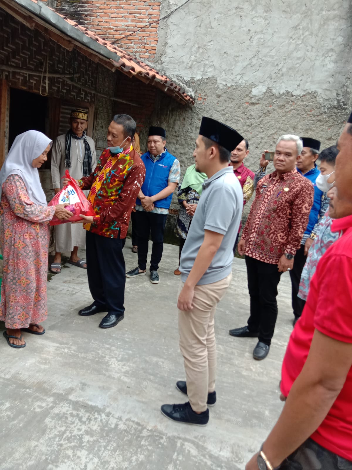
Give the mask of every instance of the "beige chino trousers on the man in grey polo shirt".
[[(189, 312), (178, 311), (180, 350), (184, 357), (187, 394), (193, 411), (206, 411), (208, 393), (215, 390), (214, 314), (231, 279), (232, 273), (221, 281), (196, 286), (193, 309)], [(178, 295), (183, 286), (181, 282)]]

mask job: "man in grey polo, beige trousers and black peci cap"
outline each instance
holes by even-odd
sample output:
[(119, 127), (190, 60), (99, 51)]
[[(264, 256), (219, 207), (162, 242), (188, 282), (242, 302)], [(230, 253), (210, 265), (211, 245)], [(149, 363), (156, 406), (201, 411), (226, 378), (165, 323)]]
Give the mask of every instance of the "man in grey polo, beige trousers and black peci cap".
[(233, 245), (243, 209), (241, 185), (229, 167), (231, 150), (243, 137), (231, 127), (203, 118), (193, 157), (196, 170), (207, 174), (202, 195), (181, 253), (178, 292), (180, 349), (186, 382), (177, 389), (189, 402), (162, 405), (168, 418), (205, 426), (207, 405), (216, 401), (214, 313), (229, 287)]

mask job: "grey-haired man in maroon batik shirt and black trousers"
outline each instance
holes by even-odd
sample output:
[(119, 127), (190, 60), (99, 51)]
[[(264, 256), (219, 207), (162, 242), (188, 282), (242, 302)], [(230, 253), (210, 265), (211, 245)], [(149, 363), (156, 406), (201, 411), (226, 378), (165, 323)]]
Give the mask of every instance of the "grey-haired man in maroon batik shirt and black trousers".
[(282, 135), (276, 144), (275, 171), (258, 182), (255, 199), (238, 243), (245, 254), (251, 298), (248, 325), (230, 330), (235, 337), (258, 337), (253, 358), (265, 359), (277, 318), (277, 285), (293, 267), (313, 204), (314, 188), (296, 169), (302, 150), (297, 135)]

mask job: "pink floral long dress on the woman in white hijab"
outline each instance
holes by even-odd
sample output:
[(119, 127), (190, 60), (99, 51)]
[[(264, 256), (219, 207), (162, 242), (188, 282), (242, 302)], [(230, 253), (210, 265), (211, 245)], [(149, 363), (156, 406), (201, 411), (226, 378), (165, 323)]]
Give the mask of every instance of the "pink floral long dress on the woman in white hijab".
[(28, 328), (47, 317), (48, 222), (55, 207), (33, 203), (19, 175), (2, 185), (0, 244), (4, 258), (0, 320), (6, 328)]

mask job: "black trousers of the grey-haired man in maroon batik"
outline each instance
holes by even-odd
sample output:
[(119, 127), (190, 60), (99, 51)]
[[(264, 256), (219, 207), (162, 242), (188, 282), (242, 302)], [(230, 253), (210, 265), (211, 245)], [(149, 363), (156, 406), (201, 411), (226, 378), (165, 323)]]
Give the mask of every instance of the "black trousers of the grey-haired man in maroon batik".
[(279, 273), (277, 265), (264, 263), (249, 256), (245, 257), (245, 264), (251, 300), (248, 329), (259, 331), (259, 341), (270, 345), (277, 318), (277, 286), (282, 273)]

